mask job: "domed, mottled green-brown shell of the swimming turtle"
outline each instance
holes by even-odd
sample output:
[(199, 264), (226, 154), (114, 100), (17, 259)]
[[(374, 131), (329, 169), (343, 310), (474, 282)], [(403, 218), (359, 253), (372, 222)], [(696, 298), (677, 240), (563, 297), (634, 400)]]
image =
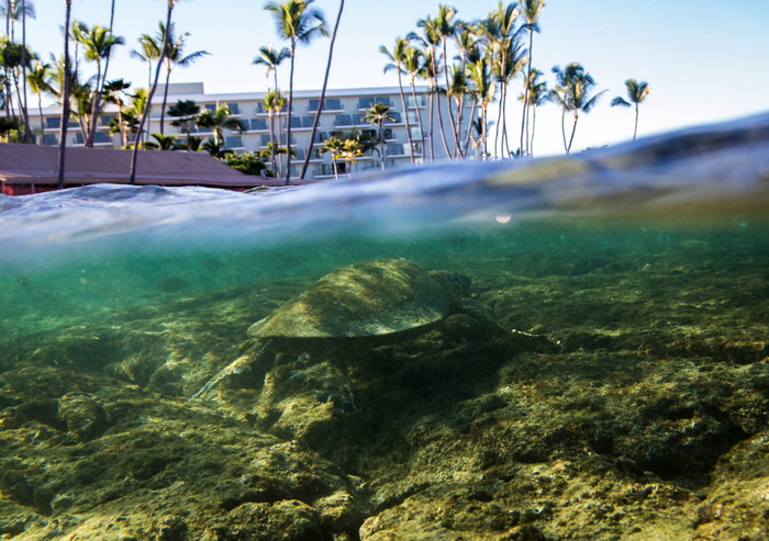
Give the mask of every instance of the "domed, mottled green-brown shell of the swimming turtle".
[(452, 295), (406, 259), (361, 261), (323, 277), (252, 325), (248, 334), (261, 338), (388, 335), (445, 318)]

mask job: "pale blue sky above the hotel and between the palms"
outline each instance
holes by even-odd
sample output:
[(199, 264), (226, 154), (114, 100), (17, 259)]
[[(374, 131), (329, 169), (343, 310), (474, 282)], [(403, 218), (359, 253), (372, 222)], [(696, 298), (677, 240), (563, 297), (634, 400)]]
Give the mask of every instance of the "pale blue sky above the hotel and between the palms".
[[(60, 52), (64, 2), (33, 0), (36, 21), (30, 21), (31, 48), (46, 57)], [(88, 24), (109, 23), (110, 0), (73, 0), (74, 18)], [(464, 20), (484, 16), (495, 0), (447, 2)], [(212, 7), (215, 5), (215, 7)], [(271, 79), (250, 63), (261, 45), (281, 45), (261, 0), (181, 0), (175, 10), (177, 29), (191, 34), (188, 52), (212, 55), (196, 66), (171, 74), (171, 82), (203, 81), (207, 92), (265, 90)], [(337, 0), (315, 5), (333, 24)], [(416, 30), (415, 23), (437, 12), (437, 1), (347, 0), (335, 47), (330, 88), (397, 84), (393, 72), (383, 74), (379, 46), (391, 46), (397, 36)], [(154, 33), (165, 16), (165, 0), (118, 0), (115, 33), (120, 47), (110, 67), (111, 78), (123, 77), (146, 84), (146, 65), (129, 56), (136, 38)], [(593, 76), (598, 89), (608, 91), (601, 103), (580, 116), (573, 150), (627, 140), (633, 135), (633, 111), (610, 108), (615, 95), (625, 95), (624, 81), (649, 82), (650, 94), (642, 104), (638, 135), (690, 125), (720, 122), (769, 111), (769, 1), (739, 0), (546, 0), (542, 32), (534, 36), (534, 66), (549, 72), (555, 65), (579, 61)], [(297, 54), (294, 88), (320, 88), (328, 41), (321, 40)], [(288, 88), (288, 64), (279, 74)], [(513, 83), (515, 97), (522, 81)], [(517, 102), (509, 122), (521, 122)], [(516, 131), (512, 137), (516, 139)], [(545, 105), (537, 112), (535, 154), (562, 153), (560, 111)]]

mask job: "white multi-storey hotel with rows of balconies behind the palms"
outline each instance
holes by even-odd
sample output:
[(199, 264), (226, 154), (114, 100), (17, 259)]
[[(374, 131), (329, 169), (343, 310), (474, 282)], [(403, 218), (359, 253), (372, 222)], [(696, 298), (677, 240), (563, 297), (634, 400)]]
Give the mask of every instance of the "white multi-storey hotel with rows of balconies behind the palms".
[[(160, 129), (160, 108), (163, 105), (163, 86), (158, 86), (153, 98), (153, 110), (149, 119), (148, 133), (159, 132)], [(411, 87), (403, 87), (404, 97), (406, 100), (406, 111), (403, 111), (400, 92), (398, 87), (382, 88), (357, 88), (343, 90), (326, 90), (325, 106), (321, 113), (321, 120), (315, 135), (315, 144), (310, 159), (310, 167), (305, 176), (309, 179), (324, 179), (334, 176), (334, 168), (330, 153), (322, 154), (321, 147), (323, 142), (330, 136), (336, 136), (344, 140), (345, 134), (355, 128), (358, 133), (365, 134), (368, 131), (374, 132), (374, 136), (378, 137), (378, 126), (372, 125), (363, 120), (366, 110), (376, 102), (383, 102), (391, 108), (391, 116), (394, 122), (387, 122), (383, 127), (384, 138), (384, 168), (393, 169), (406, 167), (411, 165), (411, 153), (409, 151), (409, 138), (406, 135), (405, 119), (409, 119), (409, 127), (412, 135), (412, 146), (414, 148), (414, 160), (416, 164), (422, 164), (430, 160), (431, 157), (431, 140), (430, 140), (430, 94), (426, 87), (416, 88), (416, 102), (411, 93)], [(215, 110), (220, 104), (226, 104), (230, 108), (231, 115), (241, 120), (247, 127), (245, 132), (225, 131), (223, 147), (232, 149), (238, 154), (255, 153), (266, 149), (270, 142), (269, 134), (269, 115), (264, 105), (265, 92), (243, 92), (243, 93), (220, 93), (207, 94), (203, 89), (203, 83), (175, 83), (168, 88), (168, 101), (166, 108), (170, 108), (180, 100), (191, 100), (198, 104), (201, 110)], [(288, 100), (287, 100), (288, 101)], [(296, 148), (296, 158), (291, 160), (291, 178), (298, 179), (304, 162), (304, 156), (310, 143), (312, 133), (312, 123), (317, 112), (320, 101), (320, 90), (299, 90), (293, 92), (293, 115), (291, 125), (291, 145)], [(434, 125), (433, 125), (433, 142), (432, 149), (434, 159), (442, 160), (447, 157), (443, 138), (441, 136), (441, 124), (437, 117), (437, 99), (434, 99)], [(462, 142), (467, 134), (467, 126), (471, 116), (471, 100), (466, 100), (465, 111), (462, 112), (461, 136)], [(417, 119), (417, 108), (422, 116), (423, 133), (420, 132)], [(441, 111), (443, 116), (443, 126), (448, 143), (449, 150), (454, 149), (454, 136), (452, 132), (452, 123), (447, 112), (447, 101), (445, 97), (441, 98)], [(115, 116), (116, 109), (114, 105), (104, 108), (100, 121), (98, 132), (94, 138), (94, 147), (97, 148), (119, 148), (121, 137), (120, 134), (110, 134), (108, 127), (110, 120)], [(278, 128), (276, 121), (276, 136), (280, 134), (281, 146), (286, 145), (286, 108), (281, 112), (281, 126)], [(456, 117), (455, 108), (455, 117)], [(60, 110), (58, 108), (43, 109), (43, 134), (44, 145), (58, 145), (59, 138), (59, 119)], [(187, 134), (183, 127), (175, 127), (170, 125), (174, 121), (168, 114), (165, 115), (165, 135), (177, 134), (177, 140), (185, 144)], [(40, 132), (40, 115), (36, 109), (30, 108), (30, 124), (35, 132)], [(213, 137), (211, 129), (193, 127), (192, 134), (198, 137), (203, 137), (203, 140)], [(424, 146), (423, 146), (424, 142)], [(68, 146), (82, 146), (83, 136), (80, 132), (79, 124), (76, 120), (70, 119), (70, 125), (67, 132)], [(379, 146), (378, 146), (379, 148)], [(285, 159), (285, 158), (283, 158)], [(357, 164), (352, 165), (344, 159), (337, 159), (337, 170), (339, 174), (348, 174), (350, 172), (364, 172), (366, 170), (380, 170), (381, 159), (378, 150), (368, 151), (366, 156), (358, 158)], [(269, 159), (265, 161), (269, 162)]]

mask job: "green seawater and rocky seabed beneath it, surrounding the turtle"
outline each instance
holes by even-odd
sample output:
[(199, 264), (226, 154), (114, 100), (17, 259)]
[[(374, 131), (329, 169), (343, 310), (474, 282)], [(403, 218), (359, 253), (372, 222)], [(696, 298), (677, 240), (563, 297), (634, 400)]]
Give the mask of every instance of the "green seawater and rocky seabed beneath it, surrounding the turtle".
[[(0, 200), (0, 537), (766, 539), (766, 125)], [(468, 277), (490, 319), (248, 336), (378, 258)], [(189, 401), (236, 359), (250, 376)]]

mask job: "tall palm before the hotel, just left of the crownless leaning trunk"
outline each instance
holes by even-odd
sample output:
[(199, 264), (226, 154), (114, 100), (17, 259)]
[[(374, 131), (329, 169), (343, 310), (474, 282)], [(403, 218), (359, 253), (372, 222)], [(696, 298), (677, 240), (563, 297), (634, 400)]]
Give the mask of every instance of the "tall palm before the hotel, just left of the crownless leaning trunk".
[[(328, 35), (323, 13), (312, 8), (314, 0), (288, 0), (286, 2), (267, 2), (265, 9), (272, 13), (280, 37), (291, 42), (291, 72), (289, 75), (288, 122), (286, 126), (287, 144), (291, 143), (291, 114), (293, 106), (293, 67), (297, 58), (297, 42), (310, 44), (320, 35)], [(286, 184), (291, 181), (291, 168), (286, 168)]]

